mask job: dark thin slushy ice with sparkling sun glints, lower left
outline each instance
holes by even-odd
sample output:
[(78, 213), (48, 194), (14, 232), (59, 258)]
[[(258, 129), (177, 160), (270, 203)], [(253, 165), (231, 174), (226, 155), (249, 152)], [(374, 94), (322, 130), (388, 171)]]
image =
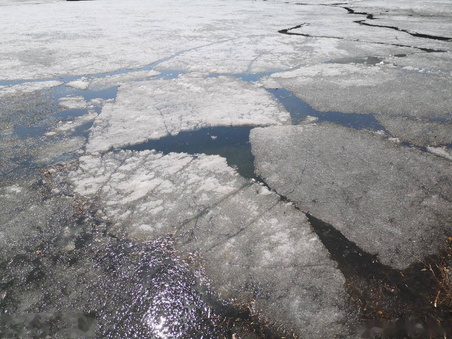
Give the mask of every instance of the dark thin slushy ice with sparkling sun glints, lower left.
[[(45, 172), (44, 185), (55, 171)], [(169, 339), (210, 333), (199, 320), (209, 306), (216, 316), (215, 306), (221, 304), (196, 279), (189, 262), (174, 254), (170, 237), (146, 243), (110, 238), (108, 226), (96, 224), (86, 206), (55, 189), (49, 196), (33, 186), (0, 187), (1, 300), (8, 313), (91, 313), (96, 336), (106, 339), (137, 332)], [(23, 324), (14, 328), (19, 331)], [(59, 324), (49, 325), (47, 333)], [(56, 338), (68, 338), (64, 334)], [(77, 337), (88, 335), (83, 334)]]

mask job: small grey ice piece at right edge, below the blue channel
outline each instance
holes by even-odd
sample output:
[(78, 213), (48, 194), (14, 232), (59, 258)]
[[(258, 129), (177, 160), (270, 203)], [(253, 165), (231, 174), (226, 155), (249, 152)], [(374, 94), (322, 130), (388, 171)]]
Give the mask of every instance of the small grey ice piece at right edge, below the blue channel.
[(395, 137), (419, 146), (436, 146), (452, 143), (452, 122), (432, 122), (377, 115), (377, 120)]

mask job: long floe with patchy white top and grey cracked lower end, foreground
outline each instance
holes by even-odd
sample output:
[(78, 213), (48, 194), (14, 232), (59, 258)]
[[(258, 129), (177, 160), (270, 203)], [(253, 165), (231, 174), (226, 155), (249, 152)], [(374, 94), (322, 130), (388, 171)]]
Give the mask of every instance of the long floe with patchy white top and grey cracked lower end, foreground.
[(225, 158), (86, 155), (59, 179), (69, 179), (82, 198), (99, 197), (97, 214), (113, 231), (146, 241), (174, 232), (179, 250), (201, 254), (221, 297), (255, 298), (264, 317), (306, 338), (344, 333), (344, 277), (307, 218), (240, 177)]

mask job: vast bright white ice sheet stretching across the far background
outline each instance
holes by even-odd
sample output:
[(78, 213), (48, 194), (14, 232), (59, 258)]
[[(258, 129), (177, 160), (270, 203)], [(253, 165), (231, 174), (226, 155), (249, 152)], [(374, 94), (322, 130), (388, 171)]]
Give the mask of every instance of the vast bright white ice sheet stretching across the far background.
[[(89, 11), (87, 3), (79, 1), (40, 6), (39, 11), (26, 2), (2, 8), (10, 20), (0, 23), (4, 33), (0, 37), (4, 47), (0, 80), (139, 68), (188, 50), (161, 65), (241, 73), (252, 63), (250, 71), (276, 71), (326, 61), (331, 53), (366, 56), (369, 52), (385, 54), (388, 49), (388, 54), (414, 50), (385, 45), (387, 28), (362, 27), (353, 20), (363, 16), (327, 6), (236, 0), (195, 0), (183, 6), (165, 0), (151, 7), (139, 0), (91, 1)], [(305, 22), (309, 25), (301, 28), (301, 33), (308, 29), (323, 36), (325, 30), (331, 34), (345, 30), (344, 37), (353, 41), (278, 33)], [(354, 41), (367, 36), (378, 44)], [(408, 46), (433, 48), (445, 43), (426, 40), (391, 31), (391, 41), (397, 44), (403, 41)]]

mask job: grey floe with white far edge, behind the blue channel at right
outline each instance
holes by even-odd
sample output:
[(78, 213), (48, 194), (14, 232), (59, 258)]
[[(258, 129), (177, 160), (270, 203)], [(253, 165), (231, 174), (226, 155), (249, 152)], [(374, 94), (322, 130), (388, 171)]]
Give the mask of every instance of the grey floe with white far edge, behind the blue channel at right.
[(274, 80), (313, 108), (344, 113), (451, 117), (452, 77), (394, 65), (317, 64), (275, 73)]

